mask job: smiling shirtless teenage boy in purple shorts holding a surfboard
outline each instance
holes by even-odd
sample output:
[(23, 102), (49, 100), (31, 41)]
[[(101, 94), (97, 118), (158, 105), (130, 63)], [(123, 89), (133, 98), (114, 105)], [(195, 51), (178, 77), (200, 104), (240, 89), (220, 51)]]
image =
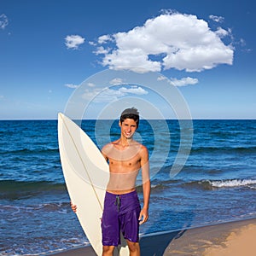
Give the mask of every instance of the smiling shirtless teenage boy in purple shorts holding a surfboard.
[[(102, 148), (109, 164), (109, 182), (102, 214), (103, 256), (113, 255), (123, 233), (130, 255), (140, 255), (139, 225), (148, 220), (150, 195), (148, 149), (133, 140), (139, 125), (136, 108), (125, 109), (119, 119), (120, 137)], [(143, 177), (143, 208), (137, 197), (136, 179), (141, 170)], [(76, 211), (76, 206), (73, 206)]]

